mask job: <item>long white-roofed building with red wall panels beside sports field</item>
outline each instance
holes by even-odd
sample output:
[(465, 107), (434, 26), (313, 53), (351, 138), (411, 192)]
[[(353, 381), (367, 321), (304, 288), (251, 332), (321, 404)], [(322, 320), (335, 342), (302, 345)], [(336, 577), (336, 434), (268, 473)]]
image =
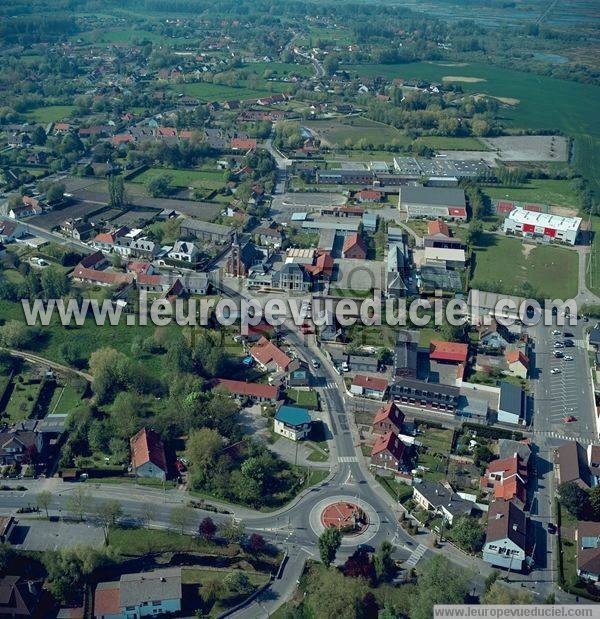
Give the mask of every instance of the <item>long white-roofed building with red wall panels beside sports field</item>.
[(575, 245), (581, 217), (561, 217), (514, 208), (504, 220), (504, 232)]

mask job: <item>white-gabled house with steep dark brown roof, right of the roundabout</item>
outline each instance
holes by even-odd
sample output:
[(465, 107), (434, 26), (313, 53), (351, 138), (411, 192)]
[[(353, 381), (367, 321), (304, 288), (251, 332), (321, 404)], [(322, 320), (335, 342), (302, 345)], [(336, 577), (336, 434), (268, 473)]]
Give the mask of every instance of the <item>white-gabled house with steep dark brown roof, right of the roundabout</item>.
[(521, 571), (528, 556), (527, 516), (514, 502), (490, 505), (483, 560), (490, 565)]

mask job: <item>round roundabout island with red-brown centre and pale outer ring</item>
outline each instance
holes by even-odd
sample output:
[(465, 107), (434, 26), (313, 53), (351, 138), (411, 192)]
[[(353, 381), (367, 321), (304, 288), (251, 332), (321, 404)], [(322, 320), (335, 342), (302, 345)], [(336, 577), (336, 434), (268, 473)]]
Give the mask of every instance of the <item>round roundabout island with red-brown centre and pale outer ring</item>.
[(310, 511), (310, 527), (320, 536), (326, 527), (335, 527), (343, 533), (342, 546), (366, 544), (372, 540), (381, 525), (372, 505), (355, 496), (331, 496), (319, 501)]

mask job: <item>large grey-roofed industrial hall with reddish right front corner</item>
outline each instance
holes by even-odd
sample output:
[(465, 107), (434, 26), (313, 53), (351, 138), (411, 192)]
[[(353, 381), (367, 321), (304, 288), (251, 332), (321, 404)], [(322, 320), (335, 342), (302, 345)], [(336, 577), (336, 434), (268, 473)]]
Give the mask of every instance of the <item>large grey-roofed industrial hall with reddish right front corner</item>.
[(465, 192), (454, 187), (401, 187), (398, 208), (410, 219), (467, 220)]

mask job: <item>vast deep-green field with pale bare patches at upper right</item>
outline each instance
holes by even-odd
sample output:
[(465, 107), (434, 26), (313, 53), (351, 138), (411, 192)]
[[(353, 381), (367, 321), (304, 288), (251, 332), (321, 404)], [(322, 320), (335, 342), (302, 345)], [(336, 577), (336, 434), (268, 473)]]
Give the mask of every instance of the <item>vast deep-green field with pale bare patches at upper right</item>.
[(517, 105), (502, 108), (501, 116), (511, 126), (552, 129), (570, 135), (600, 137), (600, 86), (569, 82), (494, 65), (467, 64), (447, 67), (433, 62), (399, 65), (346, 65), (351, 75), (423, 79), (441, 82), (444, 76), (484, 79), (483, 82), (453, 82), (467, 93), (518, 99)]

